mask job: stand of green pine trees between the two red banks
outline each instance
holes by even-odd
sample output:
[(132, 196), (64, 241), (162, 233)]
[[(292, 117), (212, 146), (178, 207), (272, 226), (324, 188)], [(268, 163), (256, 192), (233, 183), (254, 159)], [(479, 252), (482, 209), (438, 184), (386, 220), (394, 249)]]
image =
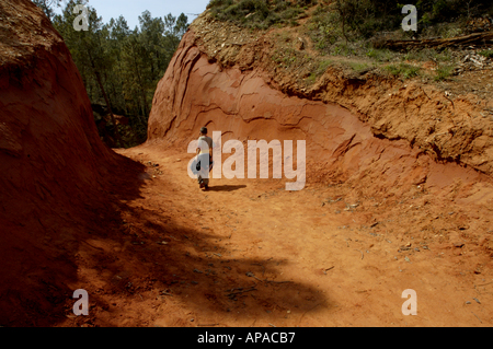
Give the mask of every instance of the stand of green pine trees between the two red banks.
[[(87, 5), (88, 0), (79, 2)], [(183, 13), (177, 19), (171, 13), (152, 18), (145, 11), (139, 16), (139, 26), (130, 30), (123, 16), (103, 24), (96, 10), (87, 5), (89, 31), (77, 32), (76, 4), (74, 0), (68, 1), (53, 22), (70, 49), (93, 107), (104, 105), (111, 116), (107, 132), (99, 127), (101, 136), (110, 147), (136, 146), (146, 139), (156, 86), (187, 28), (188, 19)], [(105, 118), (102, 115), (100, 119), (100, 113), (104, 110), (94, 117), (101, 125)], [(128, 126), (117, 127), (113, 113), (126, 116)]]

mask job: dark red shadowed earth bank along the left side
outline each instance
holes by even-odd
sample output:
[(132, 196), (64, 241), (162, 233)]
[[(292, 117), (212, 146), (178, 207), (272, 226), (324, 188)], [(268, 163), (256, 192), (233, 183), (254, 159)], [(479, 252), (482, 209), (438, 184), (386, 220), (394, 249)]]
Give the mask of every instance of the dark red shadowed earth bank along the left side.
[(0, 0), (0, 325), (33, 325), (35, 313), (49, 323), (76, 278), (64, 256), (77, 253), (73, 239), (117, 158), (42, 10)]

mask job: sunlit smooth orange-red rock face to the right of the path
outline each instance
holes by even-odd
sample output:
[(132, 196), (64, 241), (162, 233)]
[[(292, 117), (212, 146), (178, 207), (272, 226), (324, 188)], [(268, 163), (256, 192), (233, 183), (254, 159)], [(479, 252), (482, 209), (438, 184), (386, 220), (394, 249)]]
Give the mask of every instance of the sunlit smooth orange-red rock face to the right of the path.
[(306, 140), (307, 183), (365, 178), (378, 190), (425, 182), (443, 187), (454, 178), (480, 176), (456, 164), (443, 167), (404, 139), (375, 137), (375, 130), (346, 108), (289, 96), (266, 80), (260, 69), (221, 68), (188, 31), (158, 84), (148, 142), (186, 151), (202, 126), (221, 131), (222, 142)]

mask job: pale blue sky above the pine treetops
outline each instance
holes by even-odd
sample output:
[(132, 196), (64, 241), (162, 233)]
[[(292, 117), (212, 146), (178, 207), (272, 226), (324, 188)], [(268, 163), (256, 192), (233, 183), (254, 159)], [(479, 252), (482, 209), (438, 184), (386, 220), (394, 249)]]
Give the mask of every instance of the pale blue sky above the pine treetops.
[[(209, 0), (89, 0), (103, 23), (115, 20), (122, 14), (128, 27), (134, 30), (139, 25), (139, 15), (149, 10), (152, 18), (162, 18), (168, 13), (179, 16), (182, 12), (188, 18), (188, 23), (196, 19), (196, 14), (205, 11)], [(60, 10), (56, 11), (60, 13)]]

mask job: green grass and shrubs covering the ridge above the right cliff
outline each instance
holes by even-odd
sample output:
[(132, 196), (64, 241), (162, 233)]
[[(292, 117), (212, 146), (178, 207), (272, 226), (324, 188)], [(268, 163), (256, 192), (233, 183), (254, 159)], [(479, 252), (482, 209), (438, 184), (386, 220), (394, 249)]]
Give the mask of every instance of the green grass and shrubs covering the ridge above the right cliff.
[[(282, 69), (300, 70), (301, 61), (311, 59), (311, 71), (308, 74), (300, 72), (308, 85), (313, 84), (330, 66), (349, 68), (355, 73), (381, 68), (380, 72), (401, 79), (423, 77), (421, 65), (416, 63), (420, 61), (437, 65), (435, 72), (427, 74), (426, 79), (446, 80), (458, 62), (458, 55), (451, 50), (419, 48), (395, 51), (382, 47), (381, 43), (386, 39), (448, 38), (469, 34), (472, 32), (470, 23), (478, 18), (484, 20), (484, 28), (493, 28), (493, 3), (490, 0), (419, 0), (415, 5), (419, 11), (416, 32), (402, 30), (401, 23), (406, 14), (402, 14), (403, 3), (394, 0), (211, 0), (208, 9), (218, 21), (262, 33), (273, 30), (275, 48), (272, 60)], [(295, 36), (293, 40), (283, 39), (291, 35)], [(310, 49), (297, 49), (296, 36), (309, 39), (310, 44), (305, 48)], [(490, 50), (479, 54), (491, 57)], [(319, 67), (322, 62), (323, 69)]]

